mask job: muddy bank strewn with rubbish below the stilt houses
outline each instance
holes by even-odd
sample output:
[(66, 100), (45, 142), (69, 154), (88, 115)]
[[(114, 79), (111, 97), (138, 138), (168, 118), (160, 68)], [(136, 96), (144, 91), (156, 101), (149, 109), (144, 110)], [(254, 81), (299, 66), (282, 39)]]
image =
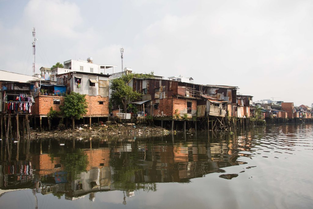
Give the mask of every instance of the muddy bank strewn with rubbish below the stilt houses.
[(108, 136), (108, 135), (167, 135), (171, 133), (165, 128), (159, 126), (135, 125), (134, 123), (111, 123), (99, 126), (82, 126), (75, 130), (66, 128), (61, 130), (51, 130), (44, 132), (37, 132), (31, 130), (31, 138), (71, 138), (71, 137), (94, 137), (94, 136)]

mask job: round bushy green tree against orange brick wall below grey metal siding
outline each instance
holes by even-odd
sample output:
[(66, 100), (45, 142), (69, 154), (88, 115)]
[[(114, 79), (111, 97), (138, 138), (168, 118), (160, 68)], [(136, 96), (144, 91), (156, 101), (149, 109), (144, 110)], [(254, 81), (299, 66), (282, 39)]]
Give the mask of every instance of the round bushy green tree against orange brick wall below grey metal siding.
[(87, 113), (87, 101), (84, 94), (72, 91), (65, 95), (64, 103), (60, 109), (65, 117), (72, 118), (72, 128), (75, 127), (75, 119), (80, 119)]

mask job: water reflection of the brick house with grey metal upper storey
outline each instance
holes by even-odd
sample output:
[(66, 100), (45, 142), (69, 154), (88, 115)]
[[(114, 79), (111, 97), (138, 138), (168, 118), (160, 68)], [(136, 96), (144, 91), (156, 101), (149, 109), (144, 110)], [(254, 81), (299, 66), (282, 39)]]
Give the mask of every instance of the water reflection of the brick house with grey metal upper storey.
[[(83, 153), (87, 156), (87, 172), (81, 172), (78, 176), (76, 176), (75, 180), (70, 180), (69, 182), (64, 178), (64, 175), (62, 175), (63, 173), (61, 174), (60, 171), (56, 172), (56, 170), (58, 170), (59, 168), (53, 167), (59, 167), (59, 157), (53, 158), (53, 163), (57, 163), (55, 165), (51, 165), (52, 160), (49, 155), (46, 158), (39, 158), (41, 160), (44, 160), (44, 162), (39, 162), (39, 165), (41, 165), (42, 163), (49, 164), (49, 177), (53, 176), (55, 180), (55, 185), (44, 186), (44, 188), (42, 189), (42, 194), (65, 193), (66, 199), (74, 200), (77, 199), (77, 197), (84, 196), (90, 192), (109, 190), (111, 178), (111, 171), (109, 166), (110, 150), (107, 148), (90, 149), (84, 150)], [(63, 165), (61, 165), (60, 168), (66, 169)], [(94, 198), (95, 194), (93, 196), (90, 196), (91, 200), (94, 200)]]

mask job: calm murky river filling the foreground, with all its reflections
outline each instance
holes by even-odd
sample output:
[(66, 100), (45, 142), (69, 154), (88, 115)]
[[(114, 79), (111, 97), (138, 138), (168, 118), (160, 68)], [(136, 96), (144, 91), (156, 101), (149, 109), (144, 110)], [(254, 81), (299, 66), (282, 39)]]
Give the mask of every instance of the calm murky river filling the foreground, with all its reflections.
[(0, 208), (313, 207), (311, 124), (16, 146)]

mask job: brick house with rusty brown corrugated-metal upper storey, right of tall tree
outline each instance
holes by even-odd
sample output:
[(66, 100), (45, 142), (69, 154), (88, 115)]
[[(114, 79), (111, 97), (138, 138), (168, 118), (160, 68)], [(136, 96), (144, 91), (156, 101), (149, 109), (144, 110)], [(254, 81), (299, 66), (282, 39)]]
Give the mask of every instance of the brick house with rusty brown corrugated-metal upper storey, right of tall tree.
[(154, 117), (196, 116), (200, 85), (179, 81), (134, 78), (134, 91), (142, 93), (147, 115)]

